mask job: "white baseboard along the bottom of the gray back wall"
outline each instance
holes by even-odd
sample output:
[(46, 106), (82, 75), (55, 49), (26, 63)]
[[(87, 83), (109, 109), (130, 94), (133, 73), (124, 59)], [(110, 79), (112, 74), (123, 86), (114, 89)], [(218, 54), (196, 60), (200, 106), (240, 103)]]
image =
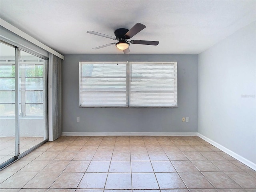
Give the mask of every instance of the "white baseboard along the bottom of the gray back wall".
[(197, 132), (62, 132), (64, 136), (197, 136)]

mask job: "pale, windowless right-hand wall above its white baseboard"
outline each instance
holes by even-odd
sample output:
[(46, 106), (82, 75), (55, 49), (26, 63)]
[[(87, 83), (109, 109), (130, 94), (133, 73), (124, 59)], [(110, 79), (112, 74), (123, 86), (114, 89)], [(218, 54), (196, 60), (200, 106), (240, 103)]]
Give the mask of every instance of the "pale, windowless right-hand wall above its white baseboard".
[(255, 34), (254, 22), (198, 56), (198, 132), (254, 163)]

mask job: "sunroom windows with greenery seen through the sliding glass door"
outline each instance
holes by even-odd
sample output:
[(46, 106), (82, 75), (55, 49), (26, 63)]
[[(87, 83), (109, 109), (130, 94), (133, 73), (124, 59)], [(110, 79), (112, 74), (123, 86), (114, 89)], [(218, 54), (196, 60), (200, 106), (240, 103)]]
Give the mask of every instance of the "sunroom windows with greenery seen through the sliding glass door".
[[(43, 116), (46, 60), (19, 52), (20, 116)], [(1, 58), (0, 71), (0, 114), (15, 116), (15, 55)]]

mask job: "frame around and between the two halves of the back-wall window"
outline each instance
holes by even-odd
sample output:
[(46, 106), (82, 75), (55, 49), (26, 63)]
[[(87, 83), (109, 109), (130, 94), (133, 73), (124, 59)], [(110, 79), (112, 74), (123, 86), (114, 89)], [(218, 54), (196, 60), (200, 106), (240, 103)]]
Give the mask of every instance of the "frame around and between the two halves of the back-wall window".
[[(81, 70), (82, 70), (82, 64), (124, 64), (126, 63), (126, 105), (125, 106), (84, 106), (81, 105)], [(176, 101), (176, 105), (173, 106), (132, 106), (130, 105), (130, 82), (131, 82), (131, 65), (132, 64), (170, 64), (174, 65), (174, 100)], [(172, 61), (172, 62), (85, 62), (80, 61), (79, 62), (79, 107), (80, 108), (178, 108), (178, 62)]]

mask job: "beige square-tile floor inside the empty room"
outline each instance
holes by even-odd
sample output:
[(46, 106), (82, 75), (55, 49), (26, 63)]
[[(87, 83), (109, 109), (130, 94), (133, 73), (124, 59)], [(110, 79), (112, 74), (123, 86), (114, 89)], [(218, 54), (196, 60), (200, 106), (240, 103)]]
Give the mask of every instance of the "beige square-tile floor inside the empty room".
[(0, 172), (1, 192), (256, 192), (256, 171), (197, 136), (62, 136)]

